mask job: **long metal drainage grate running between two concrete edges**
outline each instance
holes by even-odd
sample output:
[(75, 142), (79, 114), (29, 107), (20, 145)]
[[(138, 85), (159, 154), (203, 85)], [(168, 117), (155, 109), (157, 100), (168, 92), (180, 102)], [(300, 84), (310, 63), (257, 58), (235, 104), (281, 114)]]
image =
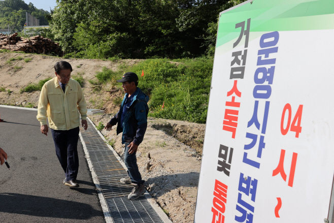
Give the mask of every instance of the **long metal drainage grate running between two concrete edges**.
[(127, 199), (133, 186), (119, 182), (120, 178), (127, 176), (127, 172), (89, 121), (87, 131), (80, 126), (80, 132), (113, 221), (163, 223), (145, 197), (135, 201)]

